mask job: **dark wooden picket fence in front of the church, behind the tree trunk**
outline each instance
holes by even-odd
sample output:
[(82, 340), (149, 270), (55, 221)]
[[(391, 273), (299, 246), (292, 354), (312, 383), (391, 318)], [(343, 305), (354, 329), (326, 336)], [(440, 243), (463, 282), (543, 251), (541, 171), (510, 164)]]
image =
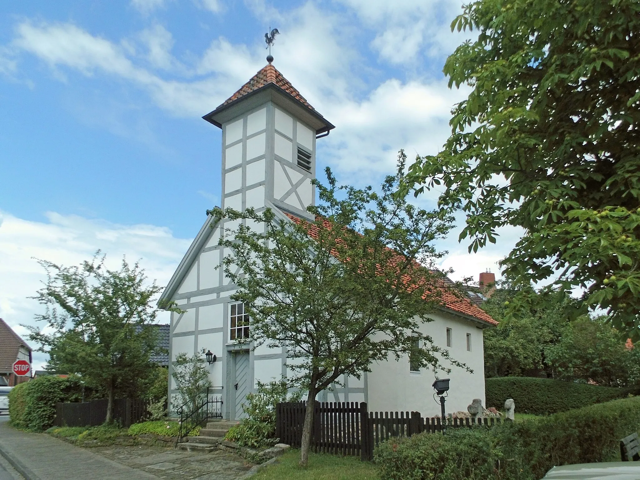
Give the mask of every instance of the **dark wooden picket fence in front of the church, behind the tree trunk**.
[[(276, 436), (280, 442), (300, 448), (307, 405), (279, 403)], [(422, 417), (420, 412), (369, 412), (366, 403), (319, 403), (314, 405), (311, 446), (316, 452), (360, 456), (372, 460), (374, 448), (395, 436), (436, 433), (447, 428), (472, 428), (500, 424), (500, 419), (449, 419)]]

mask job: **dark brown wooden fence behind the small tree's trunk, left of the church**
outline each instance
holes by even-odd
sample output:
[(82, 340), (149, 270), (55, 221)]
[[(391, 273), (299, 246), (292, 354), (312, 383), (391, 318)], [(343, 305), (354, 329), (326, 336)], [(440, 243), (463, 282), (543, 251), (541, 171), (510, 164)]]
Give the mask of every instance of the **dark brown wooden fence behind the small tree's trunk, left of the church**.
[[(113, 421), (125, 428), (148, 416), (148, 402), (142, 399), (121, 398), (113, 401)], [(93, 427), (102, 425), (107, 418), (107, 399), (81, 403), (56, 403), (58, 427)]]

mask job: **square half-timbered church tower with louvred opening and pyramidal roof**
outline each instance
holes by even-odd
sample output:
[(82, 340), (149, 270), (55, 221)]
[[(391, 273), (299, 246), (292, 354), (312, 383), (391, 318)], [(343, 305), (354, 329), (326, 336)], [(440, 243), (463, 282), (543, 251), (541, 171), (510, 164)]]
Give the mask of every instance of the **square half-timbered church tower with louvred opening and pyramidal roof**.
[[(211, 113), (222, 129), (222, 208), (269, 204), (310, 218), (316, 138), (334, 126), (269, 64)], [(324, 135), (323, 135), (324, 134)]]

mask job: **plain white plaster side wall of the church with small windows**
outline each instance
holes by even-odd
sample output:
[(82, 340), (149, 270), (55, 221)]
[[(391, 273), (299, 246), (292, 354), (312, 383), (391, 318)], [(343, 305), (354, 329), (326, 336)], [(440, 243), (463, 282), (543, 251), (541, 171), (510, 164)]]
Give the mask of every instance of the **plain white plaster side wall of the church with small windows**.
[[(473, 369), (469, 373), (459, 367), (451, 367), (451, 373), (438, 373), (438, 378), (450, 378), (449, 397), (447, 397), (447, 413), (467, 410), (467, 405), (474, 398), (482, 399), (484, 405), (484, 358), (482, 346), (482, 330), (460, 317), (445, 313), (432, 314), (434, 321), (422, 324), (420, 332), (431, 335), (437, 346), (446, 348), (446, 328), (453, 332), (451, 356)], [(466, 349), (466, 333), (471, 333), (473, 351)], [(477, 347), (476, 347), (477, 346)], [(429, 369), (415, 373), (409, 371), (409, 359), (397, 361), (390, 358), (386, 362), (371, 366), (368, 376), (369, 410), (378, 411), (416, 411), (422, 415), (440, 415), (440, 404), (433, 400), (435, 380)]]

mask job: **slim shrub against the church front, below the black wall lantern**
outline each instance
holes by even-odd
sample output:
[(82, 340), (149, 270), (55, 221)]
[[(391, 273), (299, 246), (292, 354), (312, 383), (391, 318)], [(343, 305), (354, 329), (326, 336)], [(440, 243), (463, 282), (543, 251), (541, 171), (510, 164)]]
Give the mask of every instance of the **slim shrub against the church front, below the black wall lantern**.
[(188, 413), (194, 412), (198, 404), (207, 398), (211, 387), (209, 369), (202, 358), (204, 353), (204, 348), (195, 355), (179, 353), (173, 363), (173, 378), (180, 393), (182, 408), (186, 406)]

